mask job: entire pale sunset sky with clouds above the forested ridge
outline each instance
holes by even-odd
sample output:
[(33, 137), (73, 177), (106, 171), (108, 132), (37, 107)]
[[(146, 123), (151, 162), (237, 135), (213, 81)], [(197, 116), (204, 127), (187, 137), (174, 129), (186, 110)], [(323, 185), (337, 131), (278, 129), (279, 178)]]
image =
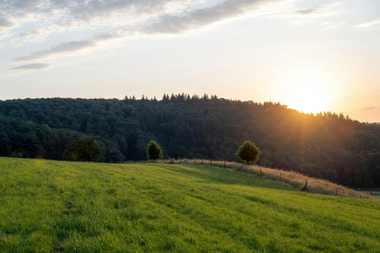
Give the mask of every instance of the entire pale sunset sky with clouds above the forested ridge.
[(380, 122), (380, 1), (0, 0), (0, 100), (182, 92)]

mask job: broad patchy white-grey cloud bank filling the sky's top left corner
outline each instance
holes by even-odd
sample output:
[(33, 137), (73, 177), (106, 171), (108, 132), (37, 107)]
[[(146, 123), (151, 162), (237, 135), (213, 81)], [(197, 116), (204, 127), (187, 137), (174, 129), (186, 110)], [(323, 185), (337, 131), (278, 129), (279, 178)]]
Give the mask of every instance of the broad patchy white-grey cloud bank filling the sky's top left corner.
[[(66, 30), (135, 26), (165, 14), (179, 14), (205, 0), (0, 0), (0, 38), (28, 24), (13, 44), (38, 42)], [(32, 28), (29, 24), (32, 23)], [(2, 34), (4, 33), (4, 34)], [(9, 36), (8, 36), (9, 37)]]

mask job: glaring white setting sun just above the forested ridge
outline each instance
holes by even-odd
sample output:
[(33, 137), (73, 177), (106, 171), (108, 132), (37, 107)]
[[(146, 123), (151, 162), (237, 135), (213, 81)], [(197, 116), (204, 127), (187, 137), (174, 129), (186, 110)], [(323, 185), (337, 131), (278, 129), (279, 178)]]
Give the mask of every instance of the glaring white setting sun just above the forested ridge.
[(283, 87), (286, 105), (303, 112), (323, 111), (330, 96), (327, 78), (308, 68), (288, 73)]

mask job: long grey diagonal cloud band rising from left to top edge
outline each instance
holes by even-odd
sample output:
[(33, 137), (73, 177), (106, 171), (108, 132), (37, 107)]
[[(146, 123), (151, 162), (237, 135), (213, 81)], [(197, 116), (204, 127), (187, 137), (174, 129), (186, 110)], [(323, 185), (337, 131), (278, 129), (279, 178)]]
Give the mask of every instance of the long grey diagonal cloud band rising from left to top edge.
[(88, 40), (61, 43), (46, 50), (33, 52), (14, 59), (14, 62), (32, 62), (53, 56), (59, 57), (95, 47), (98, 42), (126, 37), (131, 34), (178, 34), (200, 29), (207, 25), (258, 10), (262, 5), (280, 0), (225, 0), (215, 5), (197, 9), (179, 16), (162, 16), (158, 21), (132, 29), (109, 30), (94, 35)]

